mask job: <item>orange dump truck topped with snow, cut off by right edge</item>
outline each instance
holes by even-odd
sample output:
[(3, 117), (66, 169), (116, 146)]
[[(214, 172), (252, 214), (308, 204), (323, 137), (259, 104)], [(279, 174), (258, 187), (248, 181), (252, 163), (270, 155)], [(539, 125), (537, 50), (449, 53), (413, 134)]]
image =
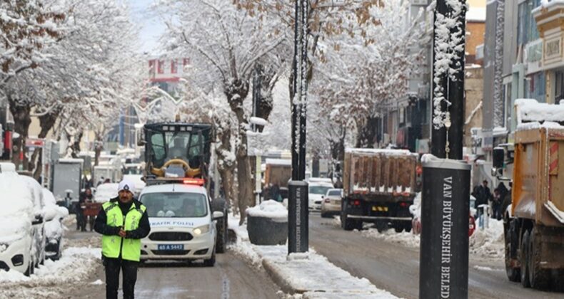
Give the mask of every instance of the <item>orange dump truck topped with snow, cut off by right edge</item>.
[(558, 288), (564, 283), (564, 106), (517, 100), (515, 108), (513, 146), (493, 155), (493, 174), (512, 180), (505, 269), (525, 288)]

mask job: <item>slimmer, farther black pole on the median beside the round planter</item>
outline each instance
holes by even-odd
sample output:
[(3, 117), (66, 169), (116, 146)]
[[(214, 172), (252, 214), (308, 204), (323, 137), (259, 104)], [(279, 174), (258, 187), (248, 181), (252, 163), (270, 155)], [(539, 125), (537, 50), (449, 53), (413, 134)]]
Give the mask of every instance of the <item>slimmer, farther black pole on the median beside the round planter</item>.
[(308, 95), (309, 0), (296, 0), (292, 100), (292, 180), (288, 184), (288, 254), (307, 252), (306, 103)]

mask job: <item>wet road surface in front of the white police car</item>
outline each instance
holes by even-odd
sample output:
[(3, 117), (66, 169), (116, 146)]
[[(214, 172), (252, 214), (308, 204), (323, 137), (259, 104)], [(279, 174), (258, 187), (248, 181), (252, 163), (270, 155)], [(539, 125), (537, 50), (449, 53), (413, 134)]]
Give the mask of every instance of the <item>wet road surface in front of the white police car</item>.
[[(91, 233), (73, 234), (83, 238)], [(92, 233), (94, 234), (94, 233)], [(263, 270), (251, 268), (233, 253), (216, 256), (216, 266), (201, 263), (152, 263), (139, 268), (135, 298), (280, 298), (279, 288)], [(97, 281), (99, 280), (99, 281)], [(105, 298), (104, 268), (71, 298)], [(120, 291), (121, 296), (121, 291)]]

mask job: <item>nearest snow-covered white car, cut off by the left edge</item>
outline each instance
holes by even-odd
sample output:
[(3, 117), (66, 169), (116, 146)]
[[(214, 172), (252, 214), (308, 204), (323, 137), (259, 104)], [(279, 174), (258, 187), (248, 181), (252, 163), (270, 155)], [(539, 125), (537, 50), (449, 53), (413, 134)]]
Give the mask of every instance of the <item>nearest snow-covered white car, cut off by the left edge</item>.
[[(37, 260), (34, 194), (11, 163), (0, 163), (0, 269), (29, 276)], [(44, 252), (44, 250), (43, 250)]]

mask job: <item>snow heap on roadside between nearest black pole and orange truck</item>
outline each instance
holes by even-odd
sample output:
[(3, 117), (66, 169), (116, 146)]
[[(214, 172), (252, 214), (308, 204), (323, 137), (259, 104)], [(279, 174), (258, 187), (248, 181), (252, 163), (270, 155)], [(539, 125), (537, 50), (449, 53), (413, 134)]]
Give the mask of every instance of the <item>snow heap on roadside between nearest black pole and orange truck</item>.
[[(476, 223), (478, 225), (478, 223)], [(489, 219), (489, 226), (476, 229), (470, 236), (470, 256), (480, 258), (503, 258), (505, 243), (503, 240), (503, 220)]]

